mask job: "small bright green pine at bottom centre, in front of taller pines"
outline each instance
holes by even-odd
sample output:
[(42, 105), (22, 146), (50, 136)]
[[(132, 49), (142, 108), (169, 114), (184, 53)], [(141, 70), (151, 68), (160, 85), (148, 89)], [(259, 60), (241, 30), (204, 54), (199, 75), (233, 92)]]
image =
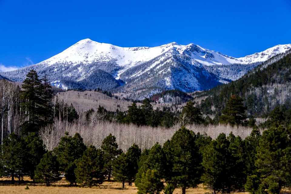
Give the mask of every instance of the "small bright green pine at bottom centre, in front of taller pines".
[(164, 188), (156, 169), (147, 169), (142, 173), (140, 183), (137, 185), (138, 194), (159, 194)]

